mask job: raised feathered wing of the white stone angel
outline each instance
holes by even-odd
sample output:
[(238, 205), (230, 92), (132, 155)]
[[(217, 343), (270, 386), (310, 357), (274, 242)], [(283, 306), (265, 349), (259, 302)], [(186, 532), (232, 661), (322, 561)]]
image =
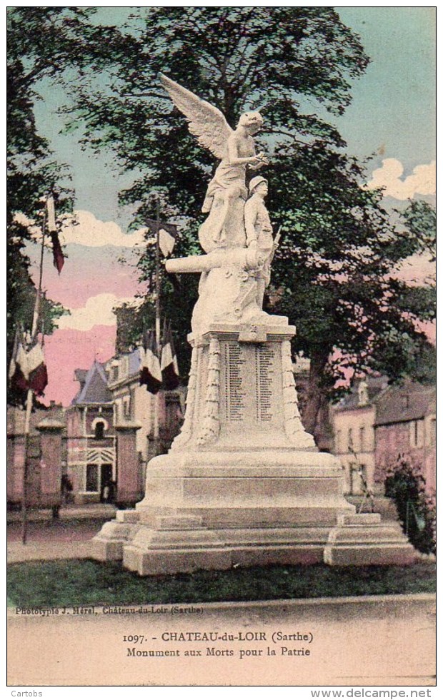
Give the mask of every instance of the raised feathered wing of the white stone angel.
[(174, 105), (188, 120), (189, 131), (197, 137), (200, 146), (209, 148), (219, 160), (224, 158), (232, 128), (221, 111), (163, 73), (160, 73), (160, 80)]

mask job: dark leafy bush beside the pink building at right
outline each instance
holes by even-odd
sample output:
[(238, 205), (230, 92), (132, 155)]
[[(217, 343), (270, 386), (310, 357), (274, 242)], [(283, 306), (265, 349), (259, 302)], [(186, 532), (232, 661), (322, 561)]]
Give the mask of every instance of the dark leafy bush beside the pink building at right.
[(403, 532), (419, 552), (435, 554), (435, 497), (425, 490), (422, 468), (399, 455), (385, 475), (385, 494), (396, 504)]

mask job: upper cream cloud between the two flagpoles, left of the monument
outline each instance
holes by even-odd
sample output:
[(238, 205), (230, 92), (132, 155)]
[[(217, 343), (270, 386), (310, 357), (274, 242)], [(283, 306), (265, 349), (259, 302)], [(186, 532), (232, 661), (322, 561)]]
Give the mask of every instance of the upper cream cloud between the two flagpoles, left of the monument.
[(134, 233), (123, 233), (114, 221), (101, 221), (89, 211), (74, 212), (74, 221), (66, 220), (61, 228), (61, 243), (77, 243), (90, 248), (103, 245), (116, 245), (123, 248), (146, 245), (144, 233), (146, 228), (139, 228)]

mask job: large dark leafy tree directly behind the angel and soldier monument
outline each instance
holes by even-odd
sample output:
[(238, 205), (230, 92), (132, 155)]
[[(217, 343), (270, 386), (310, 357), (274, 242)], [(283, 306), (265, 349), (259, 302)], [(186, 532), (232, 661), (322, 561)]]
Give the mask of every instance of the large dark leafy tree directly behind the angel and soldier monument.
[[(111, 148), (119, 164), (136, 173), (121, 195), (136, 210), (134, 225), (154, 215), (159, 195), (162, 217), (182, 217), (174, 254), (199, 251), (199, 209), (214, 162), (189, 135), (157, 73), (209, 100), (232, 125), (245, 108), (262, 111), (261, 146), (271, 161), (269, 209), (284, 227), (269, 298), (274, 311), (297, 324), (294, 350), (311, 359), (307, 429), (315, 430), (322, 401), (346, 365), (392, 377), (409, 370), (426, 342), (417, 320), (430, 318), (432, 308), (428, 290), (412, 293), (392, 268), (422, 242), (411, 230), (397, 247), (382, 193), (364, 188), (364, 167), (344, 153), (339, 133), (320, 116), (344, 111), (350, 81), (369, 61), (337, 12), (162, 7), (141, 9), (127, 30), (107, 31), (115, 47), (106, 68), (110, 88), (94, 91), (85, 78), (74, 119), (85, 125), (84, 143)], [(145, 280), (152, 267), (147, 248), (140, 260)], [(191, 308), (194, 283), (186, 279), (182, 290), (172, 296), (173, 285), (166, 285), (169, 313), (178, 299)]]

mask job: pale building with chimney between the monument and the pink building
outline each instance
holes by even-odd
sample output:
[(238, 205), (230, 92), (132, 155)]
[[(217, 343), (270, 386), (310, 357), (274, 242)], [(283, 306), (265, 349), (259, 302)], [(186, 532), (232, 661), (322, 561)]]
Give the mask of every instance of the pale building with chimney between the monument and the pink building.
[(375, 493), (383, 490), (375, 480), (374, 422), (376, 402), (386, 389), (387, 377), (368, 376), (332, 407), (334, 454), (342, 464), (349, 494), (362, 494), (364, 483)]

